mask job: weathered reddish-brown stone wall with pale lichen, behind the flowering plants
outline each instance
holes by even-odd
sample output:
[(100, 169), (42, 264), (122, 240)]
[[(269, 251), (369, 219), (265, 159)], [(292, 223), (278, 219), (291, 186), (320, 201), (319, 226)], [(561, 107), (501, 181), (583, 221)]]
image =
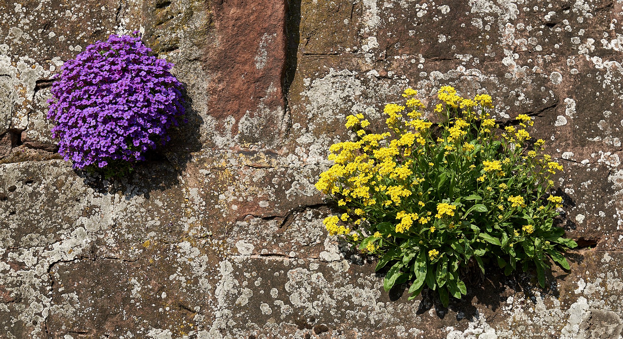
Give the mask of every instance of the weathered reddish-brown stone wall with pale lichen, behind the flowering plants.
[[(621, 338), (623, 2), (0, 4), (0, 338)], [(189, 124), (129, 178), (55, 154), (50, 77), (111, 33), (174, 62)], [(619, 60), (619, 61), (617, 61)], [(383, 291), (313, 188), (343, 119), (406, 86), (490, 93), (563, 162), (571, 272), (495, 270), (448, 309)]]

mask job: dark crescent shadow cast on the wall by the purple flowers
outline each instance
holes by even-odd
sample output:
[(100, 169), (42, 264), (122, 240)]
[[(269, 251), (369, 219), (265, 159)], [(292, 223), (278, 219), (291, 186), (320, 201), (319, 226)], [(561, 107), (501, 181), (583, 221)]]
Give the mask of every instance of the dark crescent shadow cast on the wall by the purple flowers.
[(188, 123), (169, 130), (171, 140), (164, 146), (148, 150), (145, 161), (135, 164), (130, 175), (119, 179), (105, 180), (99, 173), (90, 174), (75, 170), (79, 177), (99, 193), (124, 192), (126, 198), (143, 195), (146, 199), (154, 190), (167, 190), (179, 184), (178, 176), (184, 172), (192, 152), (201, 151), (199, 127), (204, 123), (199, 113), (193, 109), (193, 99), (182, 83), (182, 95), (186, 104), (185, 118)]

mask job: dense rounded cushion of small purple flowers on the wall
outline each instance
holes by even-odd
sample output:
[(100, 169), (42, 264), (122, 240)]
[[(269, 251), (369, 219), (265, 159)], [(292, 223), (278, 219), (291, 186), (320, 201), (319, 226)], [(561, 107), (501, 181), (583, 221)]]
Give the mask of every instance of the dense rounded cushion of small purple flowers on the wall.
[(145, 151), (171, 139), (167, 130), (184, 114), (182, 87), (169, 73), (173, 64), (150, 52), (138, 36), (113, 34), (64, 63), (47, 118), (74, 168), (145, 160)]

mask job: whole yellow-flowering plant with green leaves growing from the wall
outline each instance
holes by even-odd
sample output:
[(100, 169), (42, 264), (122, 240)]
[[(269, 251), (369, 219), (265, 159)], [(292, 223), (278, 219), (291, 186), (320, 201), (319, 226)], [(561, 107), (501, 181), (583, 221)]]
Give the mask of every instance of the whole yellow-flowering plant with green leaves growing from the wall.
[(416, 95), (385, 106), (389, 132), (346, 117), (356, 136), (330, 147), (335, 164), (316, 183), (344, 211), (323, 221), (329, 235), (378, 256), (377, 270), (390, 266), (386, 290), (411, 282), (410, 299), (428, 287), (444, 306), (467, 294), (461, 272), (472, 264), (506, 275), (534, 267), (541, 287), (549, 259), (569, 269), (561, 251), (577, 244), (553, 225), (563, 198), (550, 179), (563, 167), (533, 142), (532, 119), (520, 114), (498, 135), (489, 95), (442, 86), (435, 124)]

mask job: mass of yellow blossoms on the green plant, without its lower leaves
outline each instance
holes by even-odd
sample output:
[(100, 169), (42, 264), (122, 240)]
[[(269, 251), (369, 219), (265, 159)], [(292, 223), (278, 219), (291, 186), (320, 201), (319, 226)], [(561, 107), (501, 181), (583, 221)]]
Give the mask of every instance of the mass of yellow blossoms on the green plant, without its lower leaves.
[[(542, 139), (534, 150), (526, 149), (532, 118), (520, 114), (520, 127), (507, 126), (497, 136), (493, 131), (500, 126), (487, 111), (493, 108), (490, 96), (462, 98), (451, 86), (442, 86), (437, 92), (442, 103), (434, 108), (440, 123), (433, 126), (416, 95), (407, 88), (403, 104), (386, 104), (385, 131), (366, 129), (371, 123), (364, 114), (346, 116), (345, 126), (357, 136), (330, 147), (333, 164), (316, 183), (345, 211), (323, 220), (328, 234), (353, 244), (367, 241), (364, 250), (379, 254), (409, 241), (435, 261), (444, 258), (440, 251), (450, 238), (475, 241), (464, 232), (465, 223), (454, 218), (457, 211), (482, 232), (495, 227), (492, 236), (500, 230), (495, 225), (513, 225), (502, 232), (516, 250), (523, 248), (517, 246), (521, 241), (545, 232), (535, 232), (535, 225), (543, 225), (563, 200), (550, 196), (551, 203), (543, 205), (546, 190), (536, 187), (549, 190), (554, 183), (548, 173), (563, 167), (541, 153)], [(473, 210), (487, 213), (464, 215)], [(523, 213), (533, 225), (516, 224)], [(389, 228), (381, 226), (386, 223)]]

